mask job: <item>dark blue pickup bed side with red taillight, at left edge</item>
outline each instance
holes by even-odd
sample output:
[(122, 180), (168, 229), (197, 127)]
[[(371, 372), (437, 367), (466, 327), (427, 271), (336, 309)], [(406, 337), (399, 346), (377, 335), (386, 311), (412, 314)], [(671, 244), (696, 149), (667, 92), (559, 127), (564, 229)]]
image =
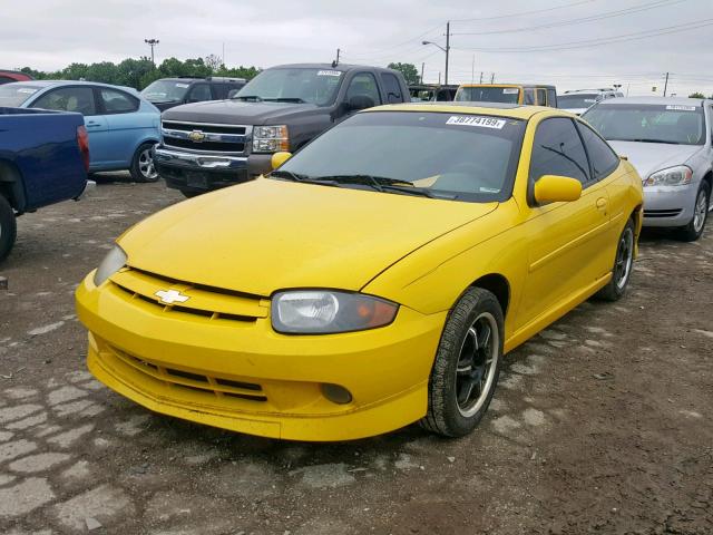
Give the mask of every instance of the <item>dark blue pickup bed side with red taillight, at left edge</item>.
[(25, 201), (35, 210), (78, 196), (86, 186), (77, 128), (80, 114), (0, 108), (0, 162), (17, 168)]

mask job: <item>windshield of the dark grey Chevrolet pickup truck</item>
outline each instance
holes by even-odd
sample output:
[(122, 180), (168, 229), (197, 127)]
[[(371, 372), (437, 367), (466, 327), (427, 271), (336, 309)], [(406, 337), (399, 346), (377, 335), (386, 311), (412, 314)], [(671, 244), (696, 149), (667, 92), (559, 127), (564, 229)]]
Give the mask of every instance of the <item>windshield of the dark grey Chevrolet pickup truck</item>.
[(334, 101), (342, 78), (343, 72), (340, 70), (267, 69), (248, 81), (233, 98), (325, 106)]

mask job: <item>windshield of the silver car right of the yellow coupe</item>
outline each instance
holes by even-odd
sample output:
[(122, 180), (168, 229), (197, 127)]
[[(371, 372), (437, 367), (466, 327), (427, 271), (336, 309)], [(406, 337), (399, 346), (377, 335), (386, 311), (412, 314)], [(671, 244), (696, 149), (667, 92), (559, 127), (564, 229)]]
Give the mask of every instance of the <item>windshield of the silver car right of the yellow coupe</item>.
[(703, 145), (705, 121), (701, 106), (665, 104), (597, 105), (582, 116), (605, 139)]

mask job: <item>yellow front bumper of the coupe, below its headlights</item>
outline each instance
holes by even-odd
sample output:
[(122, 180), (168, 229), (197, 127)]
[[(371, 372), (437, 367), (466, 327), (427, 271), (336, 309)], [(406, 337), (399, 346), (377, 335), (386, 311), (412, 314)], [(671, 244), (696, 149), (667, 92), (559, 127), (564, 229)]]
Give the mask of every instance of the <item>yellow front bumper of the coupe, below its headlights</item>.
[[(402, 307), (381, 329), (291, 337), (274, 332), (268, 314), (241, 322), (167, 312), (110, 281), (96, 288), (91, 278), (77, 290), (89, 370), (154, 411), (313, 441), (379, 435), (426, 415), (445, 312)], [(325, 383), (346, 388), (352, 401), (330, 401)]]

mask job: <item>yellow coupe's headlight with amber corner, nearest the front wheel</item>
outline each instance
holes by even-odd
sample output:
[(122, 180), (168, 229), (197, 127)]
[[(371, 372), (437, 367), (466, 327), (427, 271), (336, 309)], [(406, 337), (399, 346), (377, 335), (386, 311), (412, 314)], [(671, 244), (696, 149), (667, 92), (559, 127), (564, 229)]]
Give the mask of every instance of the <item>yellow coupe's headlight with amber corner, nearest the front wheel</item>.
[(399, 305), (361, 293), (294, 290), (272, 298), (272, 327), (290, 334), (350, 332), (388, 325)]

